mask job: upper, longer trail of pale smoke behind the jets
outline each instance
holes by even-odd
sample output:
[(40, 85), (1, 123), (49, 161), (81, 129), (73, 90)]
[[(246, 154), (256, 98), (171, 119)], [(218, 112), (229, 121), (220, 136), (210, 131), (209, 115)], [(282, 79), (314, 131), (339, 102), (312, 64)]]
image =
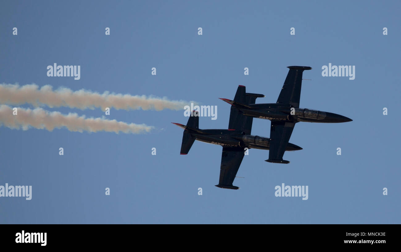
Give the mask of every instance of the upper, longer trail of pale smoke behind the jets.
[(69, 88), (59, 88), (53, 91), (51, 85), (45, 85), (39, 89), (38, 85), (30, 84), (19, 86), (18, 84), (0, 84), (0, 103), (10, 105), (22, 105), (29, 103), (35, 107), (47, 105), (49, 107), (70, 107), (77, 109), (104, 110), (106, 107), (115, 109), (163, 109), (180, 110), (184, 109), (193, 101), (170, 101), (166, 97), (152, 97), (145, 95), (122, 95), (109, 93), (108, 91), (99, 94), (84, 89), (72, 91)]

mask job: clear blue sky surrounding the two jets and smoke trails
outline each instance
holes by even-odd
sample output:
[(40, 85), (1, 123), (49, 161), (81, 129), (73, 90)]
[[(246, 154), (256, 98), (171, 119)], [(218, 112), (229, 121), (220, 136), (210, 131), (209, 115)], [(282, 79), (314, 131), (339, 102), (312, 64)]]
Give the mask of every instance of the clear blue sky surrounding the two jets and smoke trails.
[[(0, 185), (32, 185), (32, 200), (0, 198), (0, 223), (400, 224), (399, 9), (390, 1), (2, 1), (0, 83), (199, 101), (218, 108), (200, 127), (227, 129), (230, 107), (219, 97), (245, 85), (266, 96), (258, 103), (274, 103), (286, 67), (301, 65), (312, 67), (304, 72), (312, 81), (302, 83), (300, 107), (353, 121), (297, 123), (290, 142), (303, 149), (284, 154), (288, 165), (251, 149), (237, 173), (245, 178), (233, 183), (240, 190), (214, 186), (220, 146), (196, 141), (179, 155), (182, 129), (170, 122), (185, 124), (184, 110), (111, 109), (107, 119), (156, 128), (141, 135), (1, 126)], [(47, 77), (54, 62), (81, 65), (81, 79)], [(322, 77), (328, 63), (354, 65), (355, 79)], [(254, 119), (252, 134), (269, 137), (269, 125)], [(308, 185), (308, 200), (275, 197), (282, 183)]]

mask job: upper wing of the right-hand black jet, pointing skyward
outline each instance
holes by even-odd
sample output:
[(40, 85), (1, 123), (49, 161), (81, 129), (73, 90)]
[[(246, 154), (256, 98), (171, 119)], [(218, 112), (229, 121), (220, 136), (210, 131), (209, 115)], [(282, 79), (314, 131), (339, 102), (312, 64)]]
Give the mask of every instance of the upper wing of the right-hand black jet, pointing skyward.
[(283, 88), (278, 96), (277, 103), (284, 103), (293, 105), (295, 108), (300, 107), (302, 72), (310, 70), (312, 67), (288, 67), (286, 81), (284, 81)]

